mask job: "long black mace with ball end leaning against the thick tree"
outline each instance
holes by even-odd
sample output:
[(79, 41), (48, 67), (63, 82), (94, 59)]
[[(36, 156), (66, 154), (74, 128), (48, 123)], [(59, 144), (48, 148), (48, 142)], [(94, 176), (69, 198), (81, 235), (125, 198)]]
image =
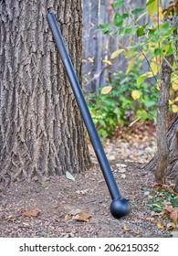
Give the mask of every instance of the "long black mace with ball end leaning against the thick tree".
[(110, 212), (113, 217), (122, 218), (128, 215), (130, 212), (129, 200), (120, 197), (120, 192), (117, 187), (114, 176), (112, 175), (110, 164), (105, 155), (102, 144), (100, 143), (99, 135), (96, 131), (96, 128), (94, 126), (94, 123), (89, 112), (89, 108), (80, 89), (79, 80), (74, 71), (72, 62), (69, 59), (67, 48), (65, 47), (64, 41), (61, 37), (55, 15), (53, 13), (48, 13), (47, 21), (52, 31), (54, 40), (57, 44), (58, 53), (60, 58), (62, 59), (76, 101), (78, 102), (79, 111), (88, 130), (95, 154), (97, 155), (97, 158), (99, 160), (101, 171), (103, 173), (103, 176), (110, 191), (110, 196), (112, 198), (112, 202), (110, 204)]

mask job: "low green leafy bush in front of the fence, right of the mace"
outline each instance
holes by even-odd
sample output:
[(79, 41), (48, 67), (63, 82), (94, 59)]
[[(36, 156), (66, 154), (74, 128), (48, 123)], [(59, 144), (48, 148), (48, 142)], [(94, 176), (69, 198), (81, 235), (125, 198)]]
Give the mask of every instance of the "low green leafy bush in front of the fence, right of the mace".
[[(119, 126), (129, 125), (138, 117), (141, 121), (155, 121), (158, 91), (143, 82), (138, 85), (139, 77), (140, 66), (135, 64), (134, 71), (131, 70), (128, 75), (122, 72), (113, 74), (109, 94), (97, 91), (87, 96), (89, 111), (101, 138), (114, 136)], [(131, 97), (135, 90), (141, 94), (137, 101)]]

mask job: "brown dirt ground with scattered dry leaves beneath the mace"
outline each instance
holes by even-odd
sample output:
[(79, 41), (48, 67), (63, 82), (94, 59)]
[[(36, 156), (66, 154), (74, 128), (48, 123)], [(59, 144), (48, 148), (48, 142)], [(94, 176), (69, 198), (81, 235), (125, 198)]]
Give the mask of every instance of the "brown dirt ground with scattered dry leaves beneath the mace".
[(133, 140), (121, 138), (105, 145), (120, 193), (130, 199), (128, 217), (111, 216), (110, 194), (89, 146), (94, 165), (73, 175), (75, 180), (55, 176), (44, 184), (23, 180), (0, 187), (0, 237), (172, 237), (172, 230), (156, 224), (167, 220), (146, 208), (148, 194), (154, 193), (153, 176), (141, 167), (154, 153), (154, 139), (148, 135)]

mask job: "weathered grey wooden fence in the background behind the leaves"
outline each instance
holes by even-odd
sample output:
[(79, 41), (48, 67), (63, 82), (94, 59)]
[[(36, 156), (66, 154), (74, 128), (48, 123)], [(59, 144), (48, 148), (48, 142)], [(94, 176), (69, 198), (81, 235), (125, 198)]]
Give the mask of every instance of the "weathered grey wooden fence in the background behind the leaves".
[[(112, 74), (119, 70), (125, 71), (127, 62), (120, 55), (112, 60), (112, 65), (107, 65), (103, 60), (109, 60), (112, 52), (121, 47), (128, 46), (133, 37), (117, 37), (104, 35), (100, 32), (99, 24), (113, 23), (115, 10), (114, 0), (83, 0), (83, 87), (85, 91), (94, 92), (112, 81)], [(166, 2), (166, 1), (163, 1)], [(146, 0), (124, 1), (126, 7), (120, 7), (120, 13), (126, 13), (134, 8), (144, 6)], [(140, 22), (146, 22), (144, 16)]]

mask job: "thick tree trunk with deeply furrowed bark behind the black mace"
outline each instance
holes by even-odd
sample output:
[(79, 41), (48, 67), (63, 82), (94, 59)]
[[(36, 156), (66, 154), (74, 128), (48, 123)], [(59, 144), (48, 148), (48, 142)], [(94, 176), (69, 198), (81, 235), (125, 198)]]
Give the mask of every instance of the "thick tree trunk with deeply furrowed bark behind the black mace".
[(0, 178), (90, 166), (77, 103), (47, 25), (53, 11), (81, 80), (80, 0), (0, 2)]

